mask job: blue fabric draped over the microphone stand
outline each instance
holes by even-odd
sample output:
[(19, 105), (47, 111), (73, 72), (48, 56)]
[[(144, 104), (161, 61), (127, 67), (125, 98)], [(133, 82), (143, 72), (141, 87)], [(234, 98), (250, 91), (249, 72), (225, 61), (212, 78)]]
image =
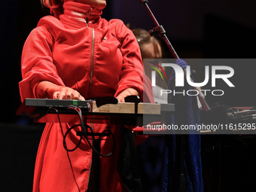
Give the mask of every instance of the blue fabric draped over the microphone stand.
[[(182, 59), (177, 59), (176, 64), (185, 69), (187, 65)], [(168, 89), (178, 90), (174, 86), (175, 72), (169, 78)], [(185, 84), (182, 90), (193, 88)], [(196, 96), (172, 96), (169, 94), (169, 103), (175, 104), (175, 114), (172, 123), (177, 125), (191, 125), (200, 123), (200, 111)], [(163, 186), (162, 192), (180, 192), (185, 187), (187, 192), (203, 192), (203, 177), (201, 163), (200, 134), (169, 135), (165, 137), (163, 157)], [(182, 162), (181, 162), (182, 160)], [(181, 175), (184, 173), (184, 176)], [(183, 182), (183, 184), (182, 184)]]

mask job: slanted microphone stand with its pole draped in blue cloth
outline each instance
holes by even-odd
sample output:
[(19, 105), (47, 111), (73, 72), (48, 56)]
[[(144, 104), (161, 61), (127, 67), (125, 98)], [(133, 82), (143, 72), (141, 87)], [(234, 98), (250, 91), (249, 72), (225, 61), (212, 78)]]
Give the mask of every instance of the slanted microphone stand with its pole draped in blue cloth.
[[(167, 47), (169, 48), (169, 50), (172, 53), (172, 56), (177, 60), (179, 59), (178, 54), (175, 52), (174, 48), (172, 47), (172, 44), (170, 43), (169, 39), (166, 36), (166, 31), (165, 29), (163, 29), (163, 26), (159, 25), (159, 23), (157, 22), (156, 17), (154, 17), (154, 14), (152, 13), (151, 9), (148, 7), (148, 0), (139, 0), (139, 2), (142, 3), (142, 5), (145, 5), (145, 8), (147, 9), (148, 13), (150, 14), (152, 20), (154, 21), (156, 27), (154, 27), (153, 29), (151, 29), (149, 31), (150, 35), (154, 35), (154, 34), (158, 34), (160, 35), (161, 38), (163, 38), (163, 41), (165, 41)], [(190, 78), (190, 81), (192, 81), (192, 79)], [(201, 93), (201, 91), (198, 89), (198, 87), (193, 87), (194, 90), (197, 90), (198, 94), (198, 98), (201, 102), (202, 108), (204, 111), (209, 111), (209, 105), (207, 104), (206, 100), (204, 99), (203, 94)], [(180, 110), (178, 110), (180, 111)], [(180, 117), (182, 117), (182, 114), (179, 114)], [(178, 121), (181, 121), (180, 117), (178, 117)], [(181, 122), (179, 122), (181, 123)], [(176, 136), (176, 147), (177, 147), (177, 151), (176, 151), (176, 160), (177, 160), (177, 170), (178, 170), (178, 186), (177, 186), (177, 191), (179, 192), (186, 192), (187, 190), (187, 178), (186, 178), (186, 173), (185, 173), (185, 169), (184, 169), (184, 135), (178, 135)]]

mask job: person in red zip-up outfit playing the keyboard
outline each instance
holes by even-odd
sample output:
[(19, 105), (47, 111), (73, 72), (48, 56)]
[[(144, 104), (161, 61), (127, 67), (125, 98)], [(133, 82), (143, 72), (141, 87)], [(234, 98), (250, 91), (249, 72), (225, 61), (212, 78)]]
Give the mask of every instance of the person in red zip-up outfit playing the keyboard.
[[(120, 20), (100, 17), (105, 0), (41, 0), (53, 16), (41, 18), (23, 47), (20, 96), (38, 99), (94, 99), (126, 96), (143, 99), (143, 65), (136, 38)], [(69, 158), (64, 133), (75, 123), (47, 123), (35, 163), (33, 191), (87, 191), (93, 150), (85, 139)], [(102, 133), (105, 124), (93, 124)], [(62, 128), (62, 130), (61, 130)], [(111, 125), (116, 149), (101, 157), (100, 190), (126, 191), (117, 172), (120, 127)], [(80, 138), (72, 130), (66, 138), (74, 148)], [(102, 154), (112, 148), (101, 142)]]

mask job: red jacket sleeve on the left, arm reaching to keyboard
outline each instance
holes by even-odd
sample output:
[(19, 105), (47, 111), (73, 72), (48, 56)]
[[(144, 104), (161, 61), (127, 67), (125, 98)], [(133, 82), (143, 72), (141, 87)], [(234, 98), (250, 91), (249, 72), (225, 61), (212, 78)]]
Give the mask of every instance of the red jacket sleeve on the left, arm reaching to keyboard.
[(20, 81), (20, 97), (36, 98), (36, 87), (41, 81), (64, 86), (52, 58), (53, 36), (44, 26), (38, 26), (29, 34), (23, 47)]

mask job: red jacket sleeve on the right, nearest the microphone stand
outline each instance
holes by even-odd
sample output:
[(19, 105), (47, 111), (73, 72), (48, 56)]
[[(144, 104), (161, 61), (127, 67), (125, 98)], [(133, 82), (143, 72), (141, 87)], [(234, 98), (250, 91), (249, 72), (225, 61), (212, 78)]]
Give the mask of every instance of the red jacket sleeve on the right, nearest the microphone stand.
[(116, 23), (116, 35), (121, 44), (120, 50), (123, 54), (123, 67), (115, 96), (126, 88), (134, 88), (143, 99), (143, 63), (139, 44), (133, 32), (120, 20)]

